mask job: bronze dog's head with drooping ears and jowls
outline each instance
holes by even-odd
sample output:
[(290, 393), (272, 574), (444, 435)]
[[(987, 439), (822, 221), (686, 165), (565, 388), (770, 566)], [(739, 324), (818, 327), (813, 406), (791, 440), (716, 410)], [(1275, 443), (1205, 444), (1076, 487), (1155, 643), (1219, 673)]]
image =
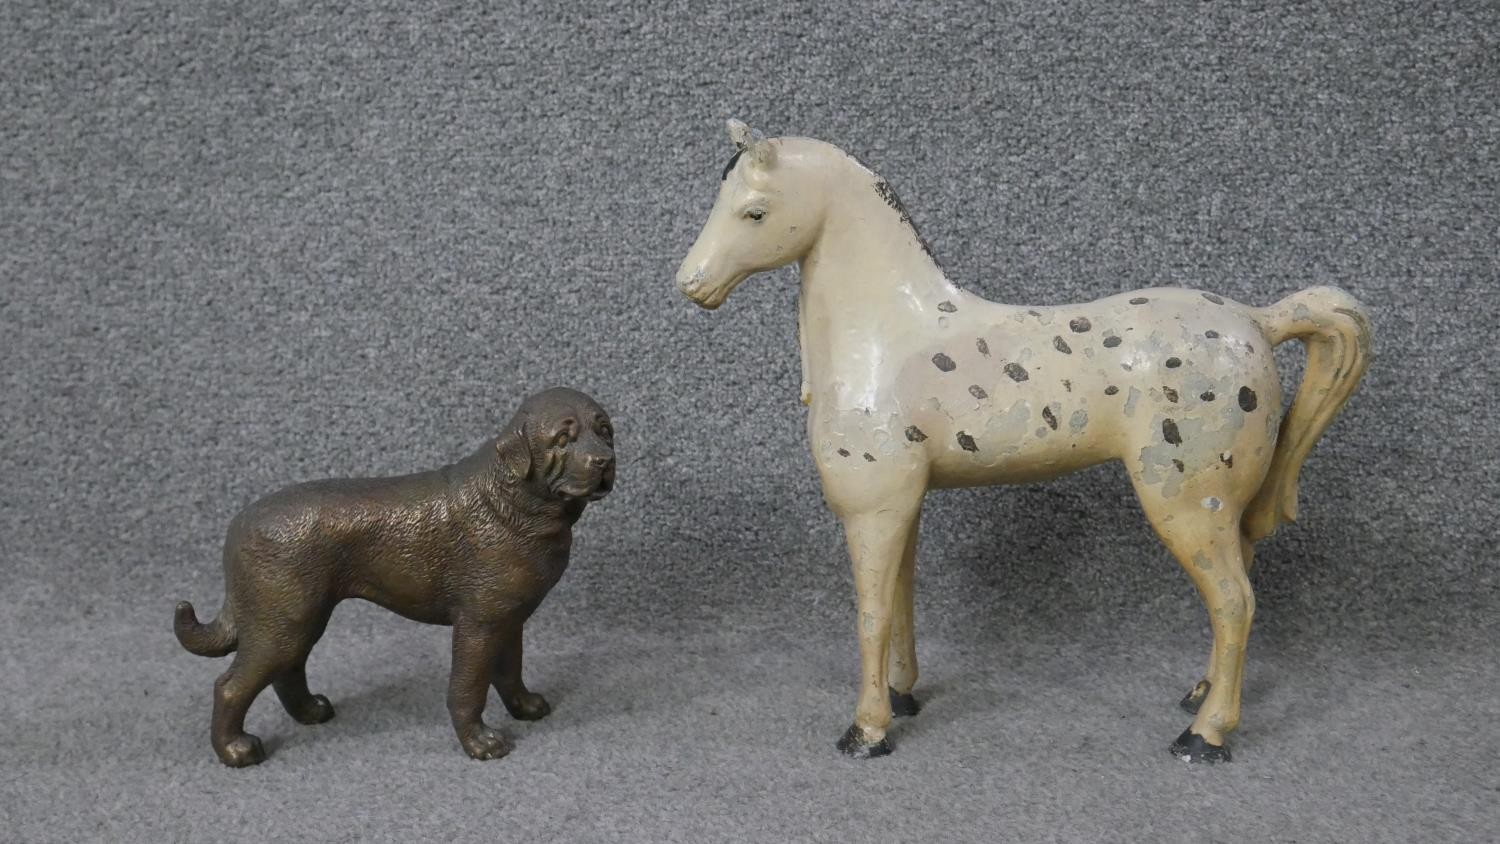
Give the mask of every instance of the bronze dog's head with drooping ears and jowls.
[(615, 486), (615, 430), (598, 402), (554, 387), (528, 397), (495, 441), (507, 483), (538, 495), (598, 501)]

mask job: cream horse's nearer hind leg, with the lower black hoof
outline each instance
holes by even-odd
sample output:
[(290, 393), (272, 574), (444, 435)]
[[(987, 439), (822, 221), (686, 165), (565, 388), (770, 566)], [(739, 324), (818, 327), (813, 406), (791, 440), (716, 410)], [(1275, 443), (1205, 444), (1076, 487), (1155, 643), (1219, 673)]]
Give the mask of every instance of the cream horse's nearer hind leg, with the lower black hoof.
[(1156, 535), (1203, 597), (1214, 628), (1208, 688), (1192, 726), (1178, 736), (1172, 753), (1191, 762), (1228, 762), (1224, 739), (1239, 726), (1245, 643), (1256, 612), (1239, 532), (1244, 504), (1216, 496), (1200, 499), (1186, 490), (1168, 499), (1155, 487), (1138, 481), (1136, 487)]

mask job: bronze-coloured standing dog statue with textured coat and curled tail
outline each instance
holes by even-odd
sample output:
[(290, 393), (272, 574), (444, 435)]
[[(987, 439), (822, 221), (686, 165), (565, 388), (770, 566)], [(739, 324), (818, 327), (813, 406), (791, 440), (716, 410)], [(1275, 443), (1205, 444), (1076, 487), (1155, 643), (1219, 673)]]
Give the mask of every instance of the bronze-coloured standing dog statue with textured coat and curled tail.
[(213, 685), (214, 753), (236, 768), (266, 759), (244, 714), (267, 685), (297, 721), (333, 718), (328, 699), (308, 690), (306, 664), (345, 598), (452, 625), (448, 715), (459, 744), (474, 759), (510, 753), (482, 720), (489, 687), (516, 718), (550, 712), (520, 679), (520, 627), (567, 568), (584, 507), (614, 481), (604, 409), (554, 388), (453, 465), (297, 484), (242, 510), (225, 538), (219, 618), (201, 624), (182, 601), (174, 625), (194, 654), (234, 652)]

